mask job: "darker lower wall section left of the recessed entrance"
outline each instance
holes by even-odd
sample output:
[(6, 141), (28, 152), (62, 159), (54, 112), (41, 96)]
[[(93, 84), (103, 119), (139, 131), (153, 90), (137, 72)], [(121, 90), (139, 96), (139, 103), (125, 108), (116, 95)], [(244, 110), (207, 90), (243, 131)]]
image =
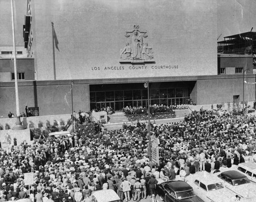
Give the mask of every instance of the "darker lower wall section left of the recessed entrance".
[[(39, 107), (39, 115), (72, 114), (70, 81), (19, 81), (19, 110), (25, 106)], [(9, 111), (16, 114), (14, 82), (0, 82), (0, 117), (8, 117)], [(90, 110), (89, 85), (78, 82), (73, 85), (73, 107)]]

